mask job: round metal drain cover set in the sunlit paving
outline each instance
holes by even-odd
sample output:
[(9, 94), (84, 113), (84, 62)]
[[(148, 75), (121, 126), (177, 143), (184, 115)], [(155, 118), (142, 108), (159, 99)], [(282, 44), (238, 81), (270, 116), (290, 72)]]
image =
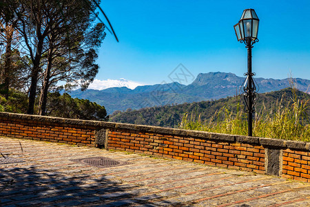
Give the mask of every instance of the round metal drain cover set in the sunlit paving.
[(72, 159), (72, 161), (77, 161), (79, 163), (86, 164), (88, 166), (95, 166), (98, 168), (110, 168), (128, 164), (125, 161), (119, 161), (107, 157), (89, 157), (84, 159)]

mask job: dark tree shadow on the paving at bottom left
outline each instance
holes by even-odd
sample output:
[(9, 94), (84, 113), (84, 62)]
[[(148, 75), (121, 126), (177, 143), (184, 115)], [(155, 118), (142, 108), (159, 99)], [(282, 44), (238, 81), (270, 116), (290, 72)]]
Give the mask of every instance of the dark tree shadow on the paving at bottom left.
[(0, 206), (180, 206), (146, 190), (105, 175), (0, 168)]

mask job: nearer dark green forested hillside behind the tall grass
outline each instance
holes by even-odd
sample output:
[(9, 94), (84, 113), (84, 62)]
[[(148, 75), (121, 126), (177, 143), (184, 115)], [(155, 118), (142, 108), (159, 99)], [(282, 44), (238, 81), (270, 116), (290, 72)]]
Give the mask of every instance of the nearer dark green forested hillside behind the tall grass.
[[(300, 100), (309, 100), (310, 95), (304, 92), (297, 92)], [(292, 101), (292, 91), (290, 88), (279, 90), (275, 92), (267, 92), (260, 94), (256, 110), (262, 107), (267, 110), (272, 110), (276, 103), (280, 102), (281, 105), (286, 107)], [(145, 124), (152, 126), (167, 126), (178, 127), (184, 115), (187, 117), (200, 117), (201, 120), (207, 121), (209, 119), (218, 119), (214, 117), (215, 113), (223, 107), (229, 111), (237, 112), (243, 110), (243, 103), (240, 103), (240, 96), (229, 97), (226, 99), (218, 99), (216, 101), (200, 101), (193, 103), (183, 103), (176, 106), (161, 106), (142, 108), (140, 110), (127, 110), (126, 112), (116, 111), (110, 117), (110, 121), (116, 121), (129, 124)], [(308, 113), (309, 108), (308, 108)]]

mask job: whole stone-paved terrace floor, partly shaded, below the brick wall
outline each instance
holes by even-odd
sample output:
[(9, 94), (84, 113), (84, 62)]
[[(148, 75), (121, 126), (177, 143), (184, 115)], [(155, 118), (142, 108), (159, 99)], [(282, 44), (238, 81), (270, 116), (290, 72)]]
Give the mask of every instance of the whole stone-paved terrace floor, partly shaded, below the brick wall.
[[(0, 206), (310, 206), (310, 184), (253, 172), (6, 137), (0, 152), (24, 161), (0, 164)], [(128, 164), (72, 161), (87, 157)]]

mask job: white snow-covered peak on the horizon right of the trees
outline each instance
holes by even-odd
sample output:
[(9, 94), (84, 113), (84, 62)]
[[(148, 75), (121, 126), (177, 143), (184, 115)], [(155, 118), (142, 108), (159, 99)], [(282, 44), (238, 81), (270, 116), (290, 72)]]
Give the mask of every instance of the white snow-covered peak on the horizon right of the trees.
[(118, 79), (118, 80), (112, 80), (112, 79), (107, 79), (107, 80), (99, 80), (99, 79), (94, 79), (92, 83), (90, 83), (90, 86), (88, 86), (88, 89), (95, 89), (95, 90), (103, 90), (106, 88), (113, 88), (113, 87), (127, 87), (130, 89), (134, 89), (137, 86), (143, 86), (141, 83), (137, 83), (134, 81), (128, 81), (126, 79)]

